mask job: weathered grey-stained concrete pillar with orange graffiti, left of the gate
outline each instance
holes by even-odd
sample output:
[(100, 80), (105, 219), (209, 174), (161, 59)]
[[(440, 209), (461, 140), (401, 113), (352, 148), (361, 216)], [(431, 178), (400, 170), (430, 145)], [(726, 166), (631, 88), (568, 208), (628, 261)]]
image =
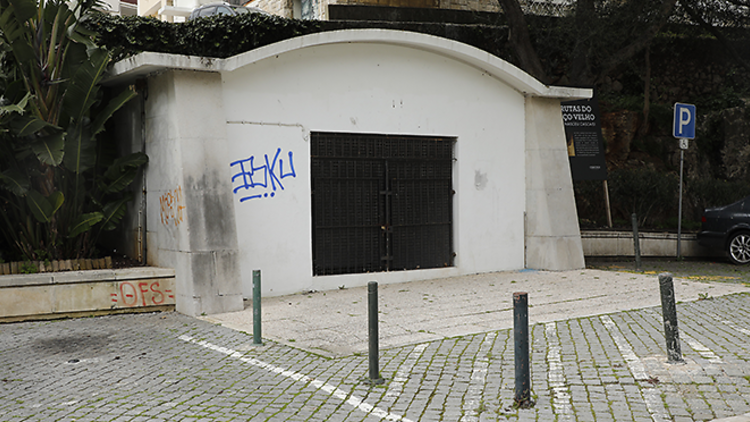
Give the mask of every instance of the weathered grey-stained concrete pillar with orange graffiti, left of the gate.
[(242, 310), (221, 75), (149, 77), (145, 119), (149, 264), (175, 269), (180, 312)]

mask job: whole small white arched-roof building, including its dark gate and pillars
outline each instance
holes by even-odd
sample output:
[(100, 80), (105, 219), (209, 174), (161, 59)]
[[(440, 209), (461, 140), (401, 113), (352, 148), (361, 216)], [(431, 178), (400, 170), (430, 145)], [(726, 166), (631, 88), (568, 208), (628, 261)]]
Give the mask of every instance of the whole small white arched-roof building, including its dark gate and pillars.
[(149, 264), (175, 268), (181, 312), (242, 309), (253, 270), (283, 295), (584, 267), (560, 101), (590, 90), (390, 30), (142, 53), (108, 83), (136, 79), (119, 119), (150, 162), (130, 248), (145, 231)]

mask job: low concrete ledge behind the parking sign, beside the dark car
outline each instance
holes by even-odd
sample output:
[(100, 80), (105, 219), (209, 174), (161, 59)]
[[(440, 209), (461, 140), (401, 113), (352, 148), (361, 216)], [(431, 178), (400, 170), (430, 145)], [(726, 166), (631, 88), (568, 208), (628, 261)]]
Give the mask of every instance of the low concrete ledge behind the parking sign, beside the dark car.
[[(683, 233), (680, 241), (682, 256), (719, 257), (722, 251), (704, 248), (698, 244), (695, 233)], [(639, 232), (641, 256), (677, 256), (677, 233)], [(581, 230), (581, 243), (585, 256), (635, 256), (633, 232), (614, 230)]]

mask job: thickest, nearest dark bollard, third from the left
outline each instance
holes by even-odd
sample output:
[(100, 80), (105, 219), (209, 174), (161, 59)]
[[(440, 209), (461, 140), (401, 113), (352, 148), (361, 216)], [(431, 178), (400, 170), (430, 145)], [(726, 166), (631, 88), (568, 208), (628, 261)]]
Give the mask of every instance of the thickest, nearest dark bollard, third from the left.
[(525, 292), (513, 293), (513, 340), (516, 363), (516, 407), (528, 408), (531, 402), (529, 371), (529, 298)]

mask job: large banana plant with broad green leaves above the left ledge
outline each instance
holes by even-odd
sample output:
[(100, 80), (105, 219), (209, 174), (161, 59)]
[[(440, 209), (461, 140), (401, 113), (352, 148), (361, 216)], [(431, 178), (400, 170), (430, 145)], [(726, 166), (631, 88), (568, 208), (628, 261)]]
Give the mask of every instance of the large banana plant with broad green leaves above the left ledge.
[(82, 25), (94, 5), (0, 0), (0, 223), (22, 259), (90, 256), (148, 160), (99, 153), (105, 123), (136, 93), (102, 101), (110, 54)]

